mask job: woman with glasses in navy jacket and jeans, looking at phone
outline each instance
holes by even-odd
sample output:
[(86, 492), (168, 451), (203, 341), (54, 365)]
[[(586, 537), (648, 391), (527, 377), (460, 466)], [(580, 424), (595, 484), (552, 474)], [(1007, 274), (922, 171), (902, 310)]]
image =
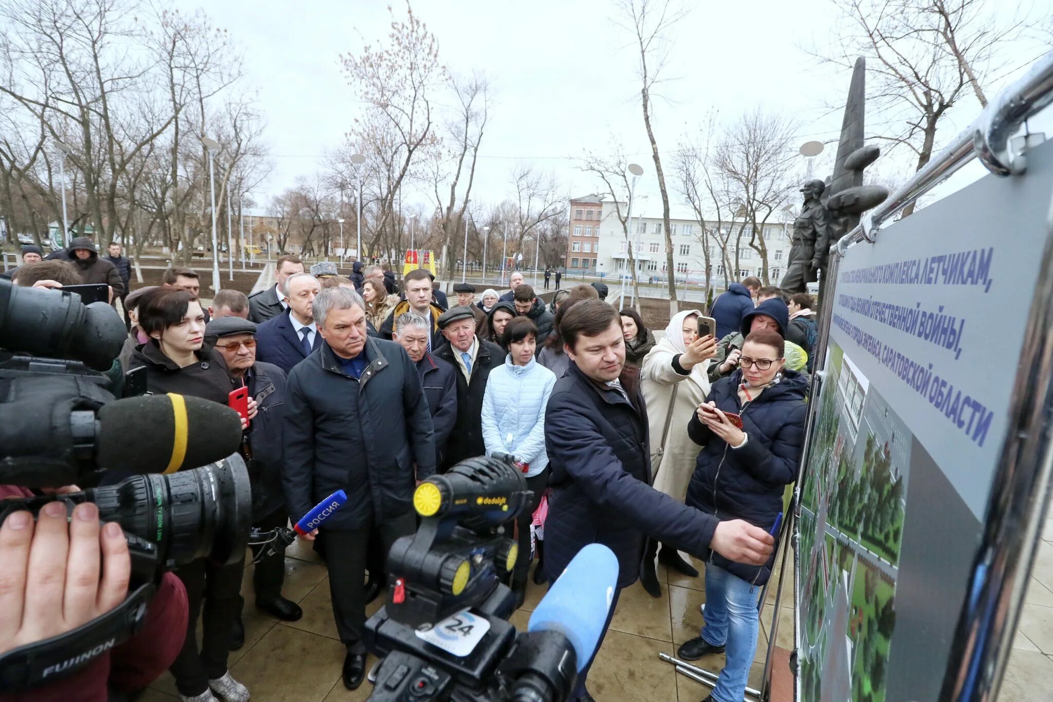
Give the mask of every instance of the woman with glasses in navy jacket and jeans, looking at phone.
[[(688, 487), (689, 506), (766, 530), (775, 526), (786, 486), (797, 477), (808, 394), (804, 376), (784, 367), (784, 343), (775, 330), (751, 332), (739, 367), (714, 383), (688, 422), (688, 435), (702, 446)], [(717, 685), (703, 702), (744, 695), (757, 646), (757, 601), (777, 549), (776, 544), (761, 566), (715, 553), (707, 559), (704, 624), (700, 636), (677, 651), (688, 661), (726, 655)]]

